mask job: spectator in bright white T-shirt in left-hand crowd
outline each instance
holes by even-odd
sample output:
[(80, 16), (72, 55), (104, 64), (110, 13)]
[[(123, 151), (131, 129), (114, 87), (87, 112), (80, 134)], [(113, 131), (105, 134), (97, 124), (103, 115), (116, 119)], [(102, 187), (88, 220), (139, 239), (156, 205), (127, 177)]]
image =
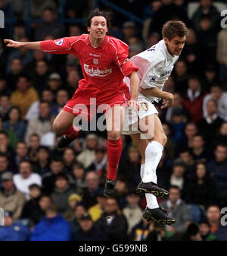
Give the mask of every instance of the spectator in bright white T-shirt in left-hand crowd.
[(14, 174), (13, 181), (16, 188), (25, 194), (26, 200), (30, 199), (29, 186), (32, 184), (42, 185), (42, 179), (38, 173), (33, 173), (29, 161), (23, 160), (19, 164), (18, 174)]

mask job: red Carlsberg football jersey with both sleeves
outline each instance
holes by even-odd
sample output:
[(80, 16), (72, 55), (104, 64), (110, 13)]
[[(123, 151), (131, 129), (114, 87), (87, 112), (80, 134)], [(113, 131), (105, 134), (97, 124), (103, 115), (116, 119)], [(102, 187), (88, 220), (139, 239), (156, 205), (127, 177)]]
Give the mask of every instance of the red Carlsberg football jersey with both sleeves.
[(138, 71), (128, 60), (129, 46), (113, 36), (105, 36), (96, 48), (92, 46), (89, 34), (42, 41), (40, 47), (43, 52), (69, 53), (79, 58), (84, 78), (79, 81), (74, 96), (81, 97), (85, 104), (91, 97), (96, 98), (97, 103), (104, 102), (117, 93), (129, 90), (123, 83), (123, 77)]

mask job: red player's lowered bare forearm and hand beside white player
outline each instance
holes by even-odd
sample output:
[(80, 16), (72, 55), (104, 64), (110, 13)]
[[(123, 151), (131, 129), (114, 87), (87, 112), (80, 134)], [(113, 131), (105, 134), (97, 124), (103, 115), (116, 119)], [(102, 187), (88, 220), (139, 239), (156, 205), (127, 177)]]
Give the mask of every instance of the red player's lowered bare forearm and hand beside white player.
[(131, 87), (131, 96), (128, 102), (128, 106), (132, 106), (133, 109), (138, 109), (137, 97), (138, 97), (138, 84), (139, 78), (137, 72), (133, 71), (129, 74), (130, 78), (130, 87)]

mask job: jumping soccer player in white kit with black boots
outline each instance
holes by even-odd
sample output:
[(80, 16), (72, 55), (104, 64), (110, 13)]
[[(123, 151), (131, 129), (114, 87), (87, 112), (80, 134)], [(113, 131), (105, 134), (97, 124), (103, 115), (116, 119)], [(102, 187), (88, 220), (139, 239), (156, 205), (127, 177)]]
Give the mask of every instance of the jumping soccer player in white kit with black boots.
[[(152, 103), (162, 99), (161, 109), (173, 105), (173, 94), (162, 90), (185, 45), (187, 31), (182, 21), (167, 21), (162, 29), (163, 40), (130, 58), (138, 67), (140, 108), (137, 115), (131, 115), (131, 118), (128, 115), (130, 121), (128, 119), (126, 122), (131, 126), (123, 134), (131, 135), (141, 154), (141, 182), (136, 190), (146, 196), (147, 207), (143, 216), (146, 220), (154, 220), (162, 226), (171, 225), (175, 220), (157, 203), (157, 198), (169, 196), (168, 191), (157, 185), (156, 175), (167, 137), (157, 116), (157, 109)], [(125, 81), (129, 84), (127, 78)]]

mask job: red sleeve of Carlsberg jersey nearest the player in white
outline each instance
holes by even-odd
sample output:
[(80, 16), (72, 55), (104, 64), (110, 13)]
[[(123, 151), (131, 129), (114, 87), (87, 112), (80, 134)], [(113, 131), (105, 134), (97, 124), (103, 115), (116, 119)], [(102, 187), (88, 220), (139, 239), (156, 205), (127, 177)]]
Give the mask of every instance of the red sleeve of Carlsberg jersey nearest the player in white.
[(123, 43), (120, 40), (114, 40), (117, 52), (116, 52), (116, 62), (120, 67), (120, 70), (123, 74), (128, 77), (129, 74), (132, 74), (133, 71), (138, 71), (138, 68), (129, 61), (129, 46), (126, 43)]

